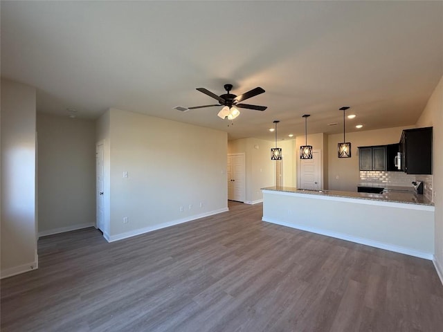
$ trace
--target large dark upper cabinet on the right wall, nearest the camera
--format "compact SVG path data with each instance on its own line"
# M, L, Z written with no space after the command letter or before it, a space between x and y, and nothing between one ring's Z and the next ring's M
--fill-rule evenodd
M401 169L406 174L432 174L432 127L405 129L400 153Z

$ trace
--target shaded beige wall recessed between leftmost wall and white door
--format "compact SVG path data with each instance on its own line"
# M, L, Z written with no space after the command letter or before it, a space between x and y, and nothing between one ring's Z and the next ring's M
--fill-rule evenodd
M95 122L39 113L37 137L39 235L95 225Z

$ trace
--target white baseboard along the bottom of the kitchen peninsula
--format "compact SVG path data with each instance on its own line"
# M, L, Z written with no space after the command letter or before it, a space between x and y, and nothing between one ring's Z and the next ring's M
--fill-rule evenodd
M286 223L284 221L269 219L269 218L266 218L265 216L262 217L262 221L266 221L267 223L276 223L277 225L282 225L282 226L286 226L286 227L290 227L290 228L296 228L297 230L305 230L307 232L326 235L327 237L335 237L336 239L342 239L345 241L360 243L360 244L364 244L365 246L371 246L374 248L380 248L380 249L384 249L384 250L390 250L393 252L399 252L399 253L405 254L405 255L415 256L415 257L429 259L429 260L433 259L432 252L422 252L422 251L418 251L418 250L411 250L409 248L395 246L394 244L390 244L390 243L383 243L383 242L379 242L379 241L364 239L361 237L352 237L347 234L332 232L330 230L323 230L320 228L306 227L304 225L296 225L293 223Z

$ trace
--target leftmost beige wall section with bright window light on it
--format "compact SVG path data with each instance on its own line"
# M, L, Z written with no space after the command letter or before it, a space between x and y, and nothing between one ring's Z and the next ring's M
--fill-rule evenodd
M1 277L37 268L35 89L1 80Z

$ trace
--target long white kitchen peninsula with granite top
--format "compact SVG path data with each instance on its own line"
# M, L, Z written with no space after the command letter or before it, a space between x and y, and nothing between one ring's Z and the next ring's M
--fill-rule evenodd
M262 221L433 259L434 211L423 195L266 187Z

